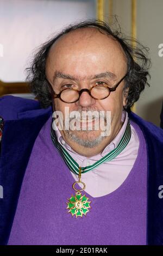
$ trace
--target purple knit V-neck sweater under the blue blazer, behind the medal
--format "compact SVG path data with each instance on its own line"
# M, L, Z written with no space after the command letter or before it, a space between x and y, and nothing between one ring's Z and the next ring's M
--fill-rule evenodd
M86 193L92 209L76 218L66 210L74 179L53 145L51 121L35 141L8 245L146 245L147 154L140 128L131 123L140 148L127 179L106 196Z

